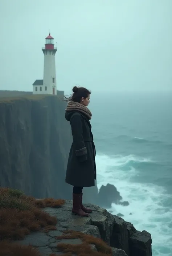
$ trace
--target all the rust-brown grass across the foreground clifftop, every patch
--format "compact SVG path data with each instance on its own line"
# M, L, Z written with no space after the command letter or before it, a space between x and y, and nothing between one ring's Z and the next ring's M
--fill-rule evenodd
M0 256L42 256L32 245L12 243L13 240L24 239L31 231L55 230L57 218L42 211L45 207L62 207L65 200L53 198L35 199L24 195L20 190L0 188ZM78 238L82 244L70 244L70 239ZM57 248L62 252L58 256L111 256L112 251L102 239L77 231L64 231L56 239L69 239L69 244L58 243ZM94 244L97 251L91 248ZM57 256L52 253L49 256Z

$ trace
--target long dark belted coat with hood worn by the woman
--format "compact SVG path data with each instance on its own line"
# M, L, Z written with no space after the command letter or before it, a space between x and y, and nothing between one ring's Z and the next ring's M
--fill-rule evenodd
M72 186L93 187L96 179L95 146L89 119L79 111L66 112L73 143L66 170L66 182Z

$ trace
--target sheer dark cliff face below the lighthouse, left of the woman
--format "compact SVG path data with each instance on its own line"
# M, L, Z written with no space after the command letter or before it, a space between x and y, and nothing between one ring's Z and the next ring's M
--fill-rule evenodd
M65 183L72 142L65 107L56 96L1 99L0 186L36 198L71 198Z

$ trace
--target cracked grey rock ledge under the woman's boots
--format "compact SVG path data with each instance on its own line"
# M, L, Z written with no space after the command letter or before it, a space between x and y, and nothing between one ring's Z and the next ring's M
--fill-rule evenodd
M22 245L31 244L38 248L42 256L50 253L61 254L58 251L58 243L82 244L80 239L61 239L65 230L74 230L102 238L112 247L112 256L151 256L151 234L147 231L137 231L129 222L125 222L119 216L115 216L94 204L85 204L93 210L89 217L71 215L72 201L65 200L61 208L44 208L51 216L57 216L57 230L46 232L32 232L26 235L24 240L15 241ZM90 245L94 250L95 246Z

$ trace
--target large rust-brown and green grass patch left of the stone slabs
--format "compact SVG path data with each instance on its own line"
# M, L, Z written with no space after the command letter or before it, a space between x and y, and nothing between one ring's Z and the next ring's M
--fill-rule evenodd
M62 199L37 200L20 190L0 188L0 240L24 239L30 231L54 229L57 218L41 208L61 207L64 203Z

